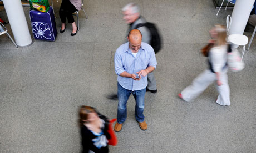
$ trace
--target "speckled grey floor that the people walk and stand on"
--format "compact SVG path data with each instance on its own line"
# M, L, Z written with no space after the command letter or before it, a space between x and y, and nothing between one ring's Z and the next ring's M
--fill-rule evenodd
M1 35L0 152L80 152L80 105L116 118L117 101L106 97L117 91L113 60L125 40L121 8L129 2L85 0L88 19L81 11L75 37L68 24L55 42L36 40L16 49ZM244 70L228 73L230 106L215 103L214 84L191 103L177 96L207 67L200 49L210 39L210 28L225 24L232 9L216 16L210 0L134 2L163 36L154 72L158 91L145 96L146 131L137 125L130 97L127 120L116 134L119 144L110 146L110 152L256 152L256 39L245 54ZM57 25L60 4L54 2ZM29 7L24 12L30 24ZM7 19L4 10L0 14Z

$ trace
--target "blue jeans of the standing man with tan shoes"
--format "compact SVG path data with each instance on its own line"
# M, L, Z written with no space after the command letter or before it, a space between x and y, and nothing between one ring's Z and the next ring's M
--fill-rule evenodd
M134 95L134 98L136 101L135 118L137 121L143 122L145 118L145 116L143 115L143 111L144 111L144 99L145 99L146 88L142 90L131 91L131 90L122 88L122 86L119 83L117 83L117 89L118 89L117 91L117 96L118 96L117 122L119 124L122 124L127 118L126 104L131 94Z

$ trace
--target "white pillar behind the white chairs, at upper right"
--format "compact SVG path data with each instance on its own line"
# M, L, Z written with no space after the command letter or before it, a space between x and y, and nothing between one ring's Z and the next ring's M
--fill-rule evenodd
M237 0L232 12L229 34L243 34L255 0Z

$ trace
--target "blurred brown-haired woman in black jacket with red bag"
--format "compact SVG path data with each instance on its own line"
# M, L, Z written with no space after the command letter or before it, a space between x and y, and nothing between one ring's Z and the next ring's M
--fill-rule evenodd
M111 132L113 128L109 127L112 125L112 120L109 121L106 116L90 106L81 106L79 116L83 153L109 152L109 141L110 145L117 144L115 133Z

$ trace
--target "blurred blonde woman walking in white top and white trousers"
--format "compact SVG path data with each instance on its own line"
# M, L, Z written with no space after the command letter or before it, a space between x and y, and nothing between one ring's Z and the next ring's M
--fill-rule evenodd
M213 82L216 82L219 96L216 103L225 106L230 105L230 90L228 85L227 65L227 32L223 25L215 25L210 30L213 39L213 48L208 53L209 68L193 80L193 83L186 87L179 97L185 101L191 101L199 96Z

